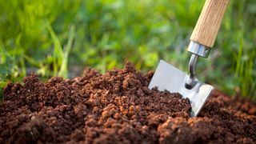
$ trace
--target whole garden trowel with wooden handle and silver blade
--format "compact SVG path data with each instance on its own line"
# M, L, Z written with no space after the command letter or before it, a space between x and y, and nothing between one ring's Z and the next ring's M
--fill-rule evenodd
M182 98L189 98L192 108L191 117L198 115L214 90L213 86L198 80L195 69L198 57L207 58L210 49L214 46L229 2L230 0L206 0L187 48L192 53L189 62L189 74L161 60L149 85L150 89L158 87L158 90L168 90L170 93L181 94Z

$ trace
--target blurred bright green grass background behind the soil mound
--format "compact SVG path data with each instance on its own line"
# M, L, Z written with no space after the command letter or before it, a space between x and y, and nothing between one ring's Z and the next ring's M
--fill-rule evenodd
M256 100L256 1L230 0L214 49L198 78ZM71 78L134 62L155 70L164 59L187 70L186 46L204 1L0 0L0 87L34 71ZM1 95L1 94L0 94Z

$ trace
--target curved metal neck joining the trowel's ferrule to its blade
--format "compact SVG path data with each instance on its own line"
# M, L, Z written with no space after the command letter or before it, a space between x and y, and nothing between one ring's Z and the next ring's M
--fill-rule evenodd
M198 83L198 78L195 74L195 69L197 67L198 63L198 55L192 54L190 58L190 63L189 63L189 77L186 79L185 86L187 89L192 89L197 83Z

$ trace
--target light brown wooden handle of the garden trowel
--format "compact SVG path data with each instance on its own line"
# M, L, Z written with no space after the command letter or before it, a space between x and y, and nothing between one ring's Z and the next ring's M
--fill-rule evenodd
M213 47L230 0L206 0L190 40Z

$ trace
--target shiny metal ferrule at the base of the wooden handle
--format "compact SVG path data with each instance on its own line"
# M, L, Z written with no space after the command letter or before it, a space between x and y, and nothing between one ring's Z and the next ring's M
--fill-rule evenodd
M208 58L210 54L210 47L203 46L198 42L190 41L190 45L188 46L187 50L190 53L197 54L200 57Z

